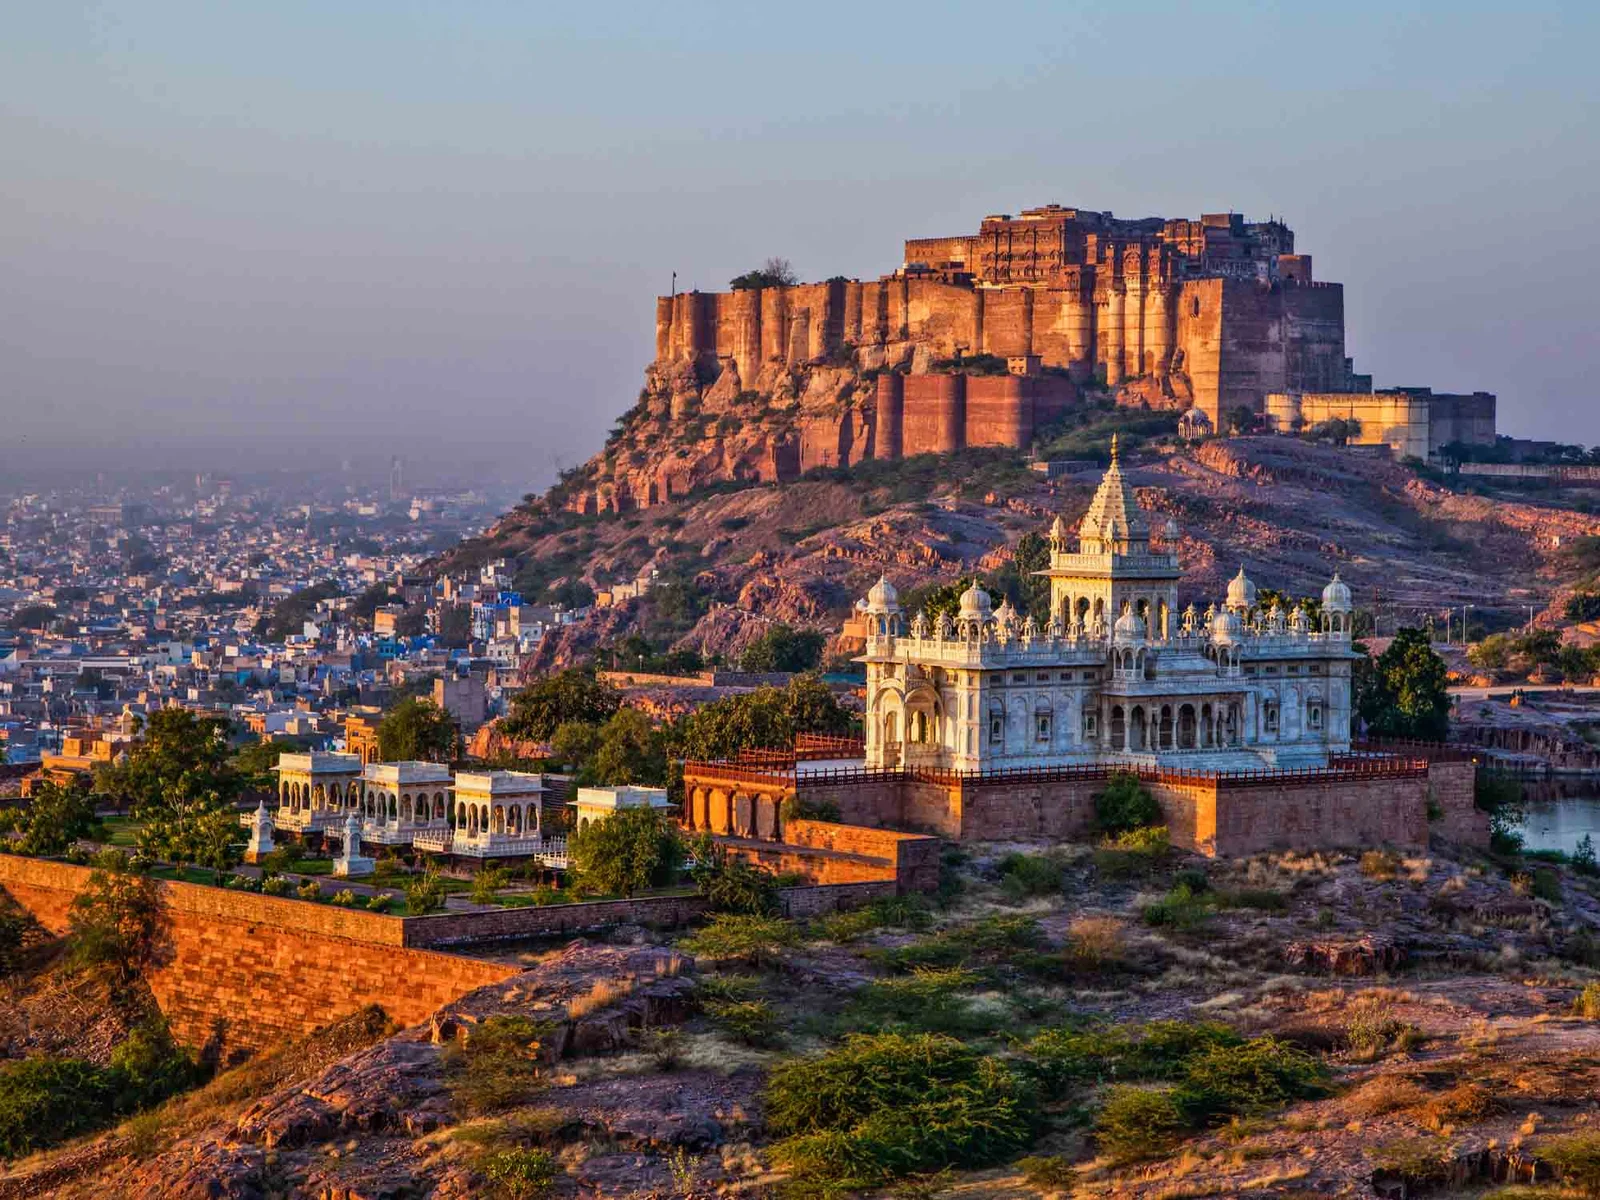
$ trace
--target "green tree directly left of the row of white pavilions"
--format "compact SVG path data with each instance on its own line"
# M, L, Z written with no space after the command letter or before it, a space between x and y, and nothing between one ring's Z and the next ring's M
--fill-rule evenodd
M229 723L187 709L152 714L128 758L101 771L99 790L139 818L139 848L174 862L232 816L245 787L227 744Z

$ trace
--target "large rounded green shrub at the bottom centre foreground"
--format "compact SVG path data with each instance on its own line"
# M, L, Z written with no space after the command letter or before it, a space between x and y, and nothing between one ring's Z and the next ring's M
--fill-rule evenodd
M774 1162L837 1190L1003 1162L1032 1142L1038 1118L1032 1091L1003 1062L938 1035L848 1037L779 1064L765 1098L782 1136Z

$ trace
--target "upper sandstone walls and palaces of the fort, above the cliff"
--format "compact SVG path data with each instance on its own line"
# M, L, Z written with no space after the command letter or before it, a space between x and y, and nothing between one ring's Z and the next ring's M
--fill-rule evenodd
M1048 206L987 218L973 237L914 238L902 267L656 301L656 360L795 366L901 342L936 358L1035 355L1078 381L1187 376L1208 416L1267 392L1342 390L1344 288L1312 278L1280 222L1237 214L1114 221Z

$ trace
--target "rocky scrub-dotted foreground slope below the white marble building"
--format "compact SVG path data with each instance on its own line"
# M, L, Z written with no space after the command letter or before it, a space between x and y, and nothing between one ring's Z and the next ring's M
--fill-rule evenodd
M1115 1072L1083 1078L1043 1106L1026 1155L912 1192L1581 1194L1552 1179L1563 1147L1600 1131L1594 877L1445 846L1242 862L970 850L942 906L701 936L698 962L619 931L536 955L413 1029L358 1014L14 1165L0 1197L816 1194L766 1126L766 1078L792 1056L851 1030L934 1032L1026 1070L1051 1037L1166 1029L1152 1021L1274 1037L1318 1082L1112 1154L1098 1112ZM547 1178L518 1190L517 1162ZM1530 1181L1542 1190L1501 1187Z

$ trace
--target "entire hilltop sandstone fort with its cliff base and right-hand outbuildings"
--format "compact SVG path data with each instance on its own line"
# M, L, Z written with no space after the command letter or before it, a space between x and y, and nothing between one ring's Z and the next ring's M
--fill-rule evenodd
M1026 448L1085 395L1186 411L1198 432L1245 410L1296 429L1371 414L1368 432L1405 453L1493 442L1486 394L1374 405L1346 357L1344 286L1314 278L1282 221L1046 205L910 238L877 280L757 272L659 296L638 405L562 501L638 509L704 483ZM1379 429L1394 413L1410 424Z

